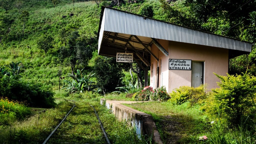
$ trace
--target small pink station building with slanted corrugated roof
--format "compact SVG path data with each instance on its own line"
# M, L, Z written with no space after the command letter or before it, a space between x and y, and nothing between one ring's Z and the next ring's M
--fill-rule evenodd
M145 86L165 86L168 93L180 86L217 88L214 73L227 75L229 59L252 48L239 39L108 7L102 7L98 39L99 55L136 62L150 70Z

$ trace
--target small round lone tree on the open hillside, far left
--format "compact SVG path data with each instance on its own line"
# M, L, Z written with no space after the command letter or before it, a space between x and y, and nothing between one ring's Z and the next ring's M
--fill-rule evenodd
M53 38L50 35L43 35L42 37L37 39L36 44L38 48L43 49L46 54L50 48L53 48L52 41Z

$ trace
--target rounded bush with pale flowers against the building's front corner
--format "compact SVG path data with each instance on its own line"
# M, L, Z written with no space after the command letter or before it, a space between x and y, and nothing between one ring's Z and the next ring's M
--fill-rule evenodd
M158 87L154 91L152 91L151 100L168 100L170 97L166 91L165 86Z

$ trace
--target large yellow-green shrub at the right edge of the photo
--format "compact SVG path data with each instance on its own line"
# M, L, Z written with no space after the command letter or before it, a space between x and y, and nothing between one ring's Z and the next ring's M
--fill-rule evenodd
M213 94L201 107L212 119L220 118L228 125L240 124L248 116L255 116L256 77L251 74L220 76L215 74L220 82ZM253 116L253 117L252 117Z

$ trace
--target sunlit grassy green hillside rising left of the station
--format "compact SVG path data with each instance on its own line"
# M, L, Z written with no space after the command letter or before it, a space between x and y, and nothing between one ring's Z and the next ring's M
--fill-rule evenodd
M21 61L26 78L34 79L46 84L56 85L58 81L57 71L62 69L63 74L70 73L70 68L64 66L59 59L60 43L58 33L67 24L78 23L81 32L88 24L88 19L99 18L100 9L93 2L63 1L55 8L51 1L25 1L23 10L29 12L24 36L22 35L23 24L19 19L18 9L14 8L5 13L1 9L4 28L9 29L0 45L0 64L7 65L12 61ZM73 16L69 16L73 13ZM62 18L62 16L67 16ZM98 23L92 24L93 30L98 30ZM53 48L47 54L36 45L36 40L44 35L54 37Z

